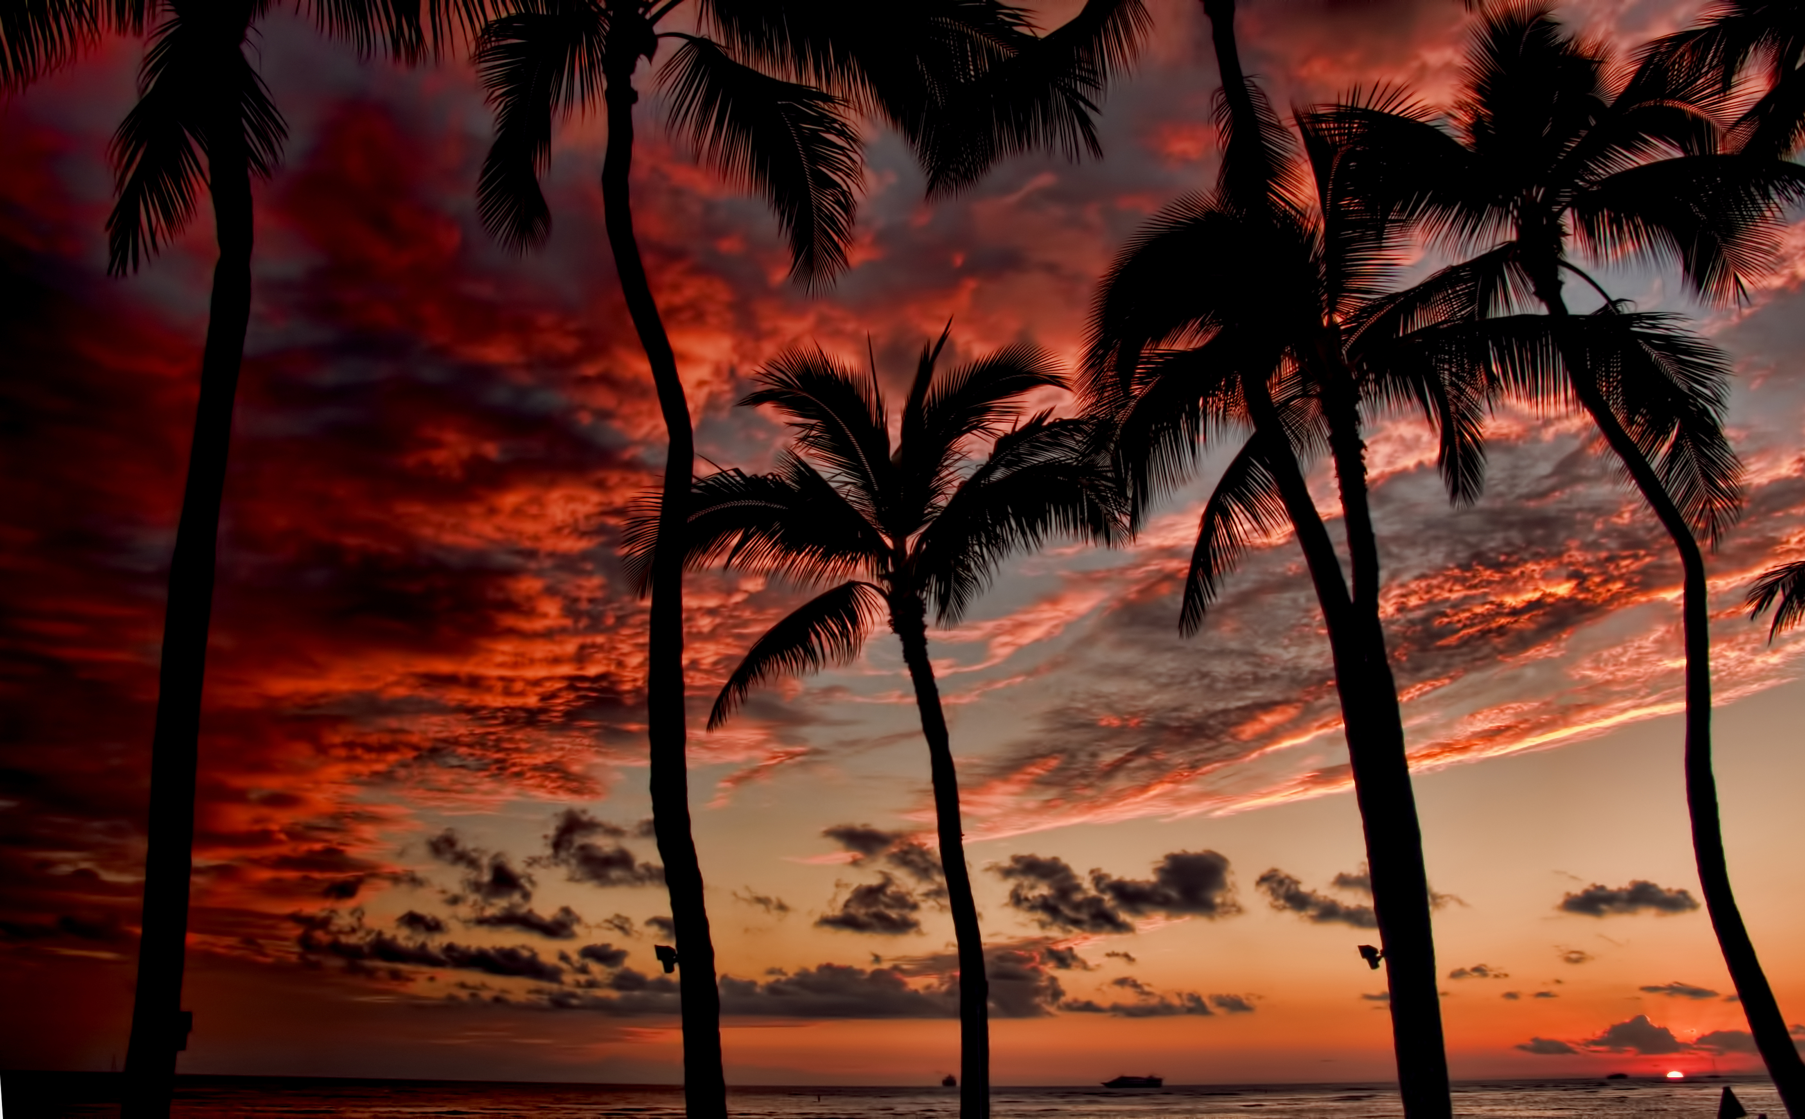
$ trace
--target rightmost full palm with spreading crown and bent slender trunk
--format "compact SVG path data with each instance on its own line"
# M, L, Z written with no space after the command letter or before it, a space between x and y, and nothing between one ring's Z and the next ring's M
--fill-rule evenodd
M1686 800L1699 881L1756 1047L1789 1114L1805 1115L1805 1063L1736 910L1711 771L1699 541L1715 545L1735 518L1740 467L1709 386L1679 426L1624 410L1623 393L1643 390L1612 384L1615 374L1599 368L1587 341L1599 323L1621 323L1621 307L1569 256L1574 244L1596 258L1677 260L1697 296L1740 298L1773 258L1785 204L1805 197L1805 168L1720 152L1713 96L1709 81L1661 51L1614 81L1599 47L1565 32L1547 7L1514 4L1480 20L1451 130L1419 106L1341 106L1328 119L1348 144L1359 197L1446 247L1484 249L1498 287L1527 294L1554 319L1563 375L1543 388L1585 412L1673 541L1684 576ZM1597 314L1569 310L1567 276L1605 296Z

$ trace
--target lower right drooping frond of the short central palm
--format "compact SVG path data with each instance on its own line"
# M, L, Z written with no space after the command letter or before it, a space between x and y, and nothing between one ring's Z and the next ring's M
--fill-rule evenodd
M1087 421L1040 413L996 439L921 534L912 569L940 623L957 623L1009 556L1051 536L1117 543L1121 491Z

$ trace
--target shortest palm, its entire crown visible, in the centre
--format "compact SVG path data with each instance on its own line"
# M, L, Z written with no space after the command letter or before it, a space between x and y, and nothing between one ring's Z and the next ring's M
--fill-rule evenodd
M989 1114L989 984L984 939L971 899L958 774L928 659L928 612L957 623L998 565L1052 534L1112 543L1119 538L1117 487L1094 455L1090 426L1018 419L1022 397L1061 386L1052 359L1007 347L944 374L946 334L922 348L901 440L892 449L877 384L821 350L791 350L760 375L764 388L742 404L773 404L796 442L769 475L718 471L688 495L686 563L771 572L803 585L834 579L771 626L727 682L709 713L718 727L756 684L845 664L879 621L902 643L915 686L933 774L933 810L958 940L960 1105L964 1119ZM973 442L991 440L971 466ZM628 536L641 570L657 556L643 518Z

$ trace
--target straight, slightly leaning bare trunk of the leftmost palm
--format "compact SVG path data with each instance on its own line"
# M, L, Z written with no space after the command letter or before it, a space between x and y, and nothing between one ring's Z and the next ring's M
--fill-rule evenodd
M188 1049L182 971L188 948L188 888L193 872L195 776L200 754L200 693L213 617L220 502L231 449L233 399L244 336L251 321L251 166L233 128L208 153L213 226L220 256L213 265L208 339L200 356L200 399L188 451L182 513L175 523L170 590L157 668L157 720L150 740L150 821L144 852L144 908L139 920L137 989L125 1056L128 1119L164 1119L175 1054Z

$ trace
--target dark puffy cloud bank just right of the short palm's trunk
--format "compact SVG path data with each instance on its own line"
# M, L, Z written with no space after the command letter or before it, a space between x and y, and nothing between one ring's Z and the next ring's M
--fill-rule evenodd
M991 866L1009 881L1009 906L1049 929L1128 933L1128 917L1227 917L1240 911L1229 861L1213 850L1171 852L1152 879L1119 879L1092 870L1079 879L1065 859L1016 854Z

